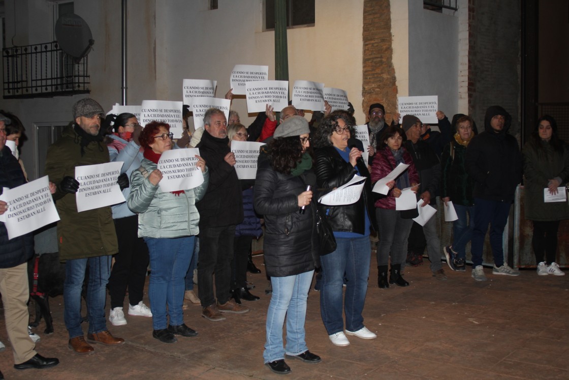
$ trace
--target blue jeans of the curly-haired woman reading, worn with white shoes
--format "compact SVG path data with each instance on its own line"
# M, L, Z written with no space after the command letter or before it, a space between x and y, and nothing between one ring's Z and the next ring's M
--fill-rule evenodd
M344 272L346 294L344 312L346 330L357 331L364 327L365 295L368 291L369 262L372 246L369 236L336 238L337 248L321 256L322 283L320 285L320 314L328 335L344 331L342 319Z

